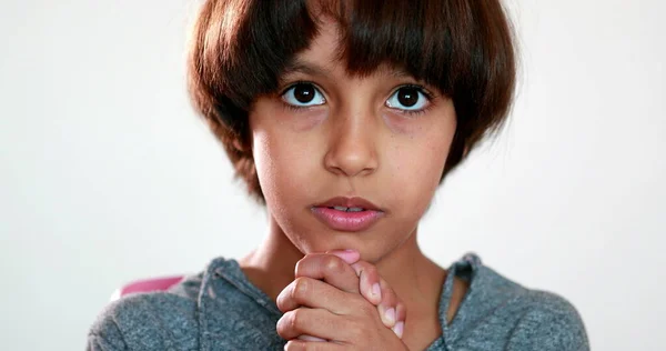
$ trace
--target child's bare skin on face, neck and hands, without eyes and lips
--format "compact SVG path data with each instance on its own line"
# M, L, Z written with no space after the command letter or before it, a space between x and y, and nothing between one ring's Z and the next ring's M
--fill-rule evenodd
M441 334L446 271L420 250L417 227L444 169L455 109L435 88L390 67L349 76L336 60L337 42L335 24L323 22L296 57L305 69L286 73L276 93L253 103L251 148L270 227L241 268L285 312L276 328L287 350L422 350ZM312 82L324 102L290 108L283 92L297 81ZM418 113L386 103L404 84L432 94L420 100L427 103ZM311 212L333 197L365 198L384 215L361 232L333 230ZM466 288L455 281L448 321Z

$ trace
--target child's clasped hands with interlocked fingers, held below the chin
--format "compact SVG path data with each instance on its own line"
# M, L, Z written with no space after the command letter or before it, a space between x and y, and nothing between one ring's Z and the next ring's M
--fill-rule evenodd
M400 340L404 303L359 258L355 251L334 251L299 261L296 279L278 297L284 312L278 333L289 340L286 350L406 350Z

